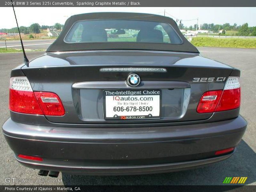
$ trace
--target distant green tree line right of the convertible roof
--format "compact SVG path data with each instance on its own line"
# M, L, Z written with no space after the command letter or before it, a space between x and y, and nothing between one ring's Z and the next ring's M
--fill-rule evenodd
M184 29L184 30L196 30L196 24L194 26L184 26L183 23L179 24L179 28L180 29ZM197 26L197 29L199 27ZM212 31L213 33L218 33L219 30L224 30L225 31L237 31L238 33L236 35L238 36L256 36L256 26L254 27L249 27L248 23L244 23L243 25L237 25L236 23L234 23L233 25L230 25L229 23L225 23L223 25L219 25L219 24L214 24L214 23L204 23L200 26L200 29L202 30L209 30Z

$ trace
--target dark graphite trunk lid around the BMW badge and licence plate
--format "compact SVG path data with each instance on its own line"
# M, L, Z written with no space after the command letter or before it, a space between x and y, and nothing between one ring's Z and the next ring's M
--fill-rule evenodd
M138 71L141 68L161 68L161 72ZM28 66L22 67L22 71L33 91L59 95L66 114L46 116L51 122L131 124L208 119L212 113L197 113L197 104L204 92L223 89L225 81L217 82L216 79L227 78L233 68L190 53L85 51L48 53L30 61ZM131 73L140 76L140 86L125 84ZM161 118L105 120L104 90L160 90Z

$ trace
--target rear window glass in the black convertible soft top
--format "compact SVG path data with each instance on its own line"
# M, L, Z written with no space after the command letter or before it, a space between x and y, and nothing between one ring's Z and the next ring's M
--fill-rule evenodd
M137 42L181 44L170 24L140 20L86 20L76 22L65 37L67 43Z

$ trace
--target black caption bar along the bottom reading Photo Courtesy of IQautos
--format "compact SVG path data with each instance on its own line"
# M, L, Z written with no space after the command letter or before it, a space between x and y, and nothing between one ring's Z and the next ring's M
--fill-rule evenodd
M23 186L23 185L15 185L15 186L0 186L1 192L91 192L91 191L97 191L97 192L116 192L116 191L122 191L122 192L166 192L166 191L172 191L172 192L180 192L180 191L186 191L186 192L199 192L199 191L207 191L207 192L216 192L216 191L232 191L232 192L251 192L255 191L255 185L252 186L225 186L225 185L185 185L185 186Z

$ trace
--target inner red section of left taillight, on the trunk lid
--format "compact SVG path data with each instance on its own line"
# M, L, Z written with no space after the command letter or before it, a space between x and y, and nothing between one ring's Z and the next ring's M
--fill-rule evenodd
M65 114L64 107L60 98L51 92L34 92L36 99L41 106L44 115L63 116Z

